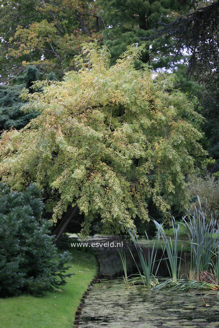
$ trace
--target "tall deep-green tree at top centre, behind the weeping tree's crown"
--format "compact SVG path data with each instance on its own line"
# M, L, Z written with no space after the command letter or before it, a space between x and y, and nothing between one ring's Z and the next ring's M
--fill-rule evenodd
M146 45L142 61L154 68L164 67L171 59L172 40L167 39L150 41L149 36L154 34L153 29L159 28L160 22L169 23L179 12L188 9L188 5L177 1L156 0L99 0L103 18L108 24L104 33L104 44L109 46L111 63L114 64L127 45ZM142 38L148 38L143 40ZM165 56L164 56L165 55Z

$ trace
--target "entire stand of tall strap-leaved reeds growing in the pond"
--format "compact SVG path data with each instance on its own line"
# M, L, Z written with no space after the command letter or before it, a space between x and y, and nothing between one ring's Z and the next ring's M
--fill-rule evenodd
M157 227L157 235L152 251L148 251L148 260L146 260L145 255L139 245L134 227L132 226L131 230L126 229L134 242L142 266L142 270L137 266L139 276L130 280L131 283L139 284L142 280L143 285L146 288L153 288L153 290L171 289L185 291L189 289L219 289L219 226L217 220L213 218L213 216L211 216L211 220L209 222L207 221L207 215L206 212L204 213L202 211L199 197L198 201L200 205L199 210L195 207L193 215L191 212L188 212L189 217L186 218L185 216L183 218L184 223L179 223L176 225L175 219L172 218L174 232L173 240L171 237L166 236L163 224L160 224L154 220ZM189 277L187 279L182 279L179 277L180 265L183 260L183 245L179 256L177 251L177 241L180 227L182 226L186 227L187 236L190 243L191 266ZM147 234L146 238L147 241L149 241ZM161 243L161 240L164 241L164 245ZM155 247L155 245L157 246ZM153 275L155 262L157 261L156 254L158 245L160 245L163 250L163 256L160 259L158 267L161 261L165 260L170 275L170 279L160 283L156 278L158 268L155 275ZM133 257L132 252L131 255ZM133 259L135 260L134 257Z

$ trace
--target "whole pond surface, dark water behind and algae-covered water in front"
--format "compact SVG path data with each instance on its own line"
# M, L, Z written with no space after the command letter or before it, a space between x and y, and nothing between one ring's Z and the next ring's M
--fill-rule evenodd
M122 247L94 248L99 260L100 283L96 283L82 308L80 328L110 327L219 327L218 291L209 292L174 292L150 291L142 286L125 289L123 268L118 249L126 254L128 275L136 273L136 265L128 250L128 245L135 253L135 248L124 239L115 236L92 237L89 242L123 242ZM182 242L179 242L181 244ZM185 244L185 241L184 241ZM141 240L141 248L147 257L148 248ZM181 248L181 245L179 245ZM118 249L117 249L118 248ZM162 250L158 252L162 256ZM185 262L181 273L189 270L189 253L185 252ZM168 277L165 261L162 261L158 276ZM202 301L209 306L206 307Z

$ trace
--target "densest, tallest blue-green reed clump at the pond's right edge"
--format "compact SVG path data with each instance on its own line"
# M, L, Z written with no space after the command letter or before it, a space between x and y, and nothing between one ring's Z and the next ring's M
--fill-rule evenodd
M205 213L202 211L199 197L198 202L199 210L195 207L193 215L188 211L189 217L185 216L183 218L184 223L182 223L186 227L190 243L191 264L188 279L179 279L179 277L176 279L175 277L172 280L161 282L154 289L167 288L178 291L219 289L219 227L217 220L212 215L210 221L207 220L206 211ZM158 224L156 225L158 226ZM162 229L161 232L163 233ZM162 237L165 239L165 234ZM166 245L168 246L167 243ZM172 243L170 245L172 246ZM171 260L174 260L176 253L173 252L172 248L170 251L167 251L167 255L171 264ZM176 262L174 264L176 265Z

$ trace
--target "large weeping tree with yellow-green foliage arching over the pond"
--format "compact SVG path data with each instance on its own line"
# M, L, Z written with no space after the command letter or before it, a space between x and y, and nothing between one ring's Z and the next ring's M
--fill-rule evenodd
M40 114L1 137L2 181L18 191L35 182L44 191L57 239L78 210L87 236L97 217L111 234L136 217L149 220L149 199L164 213L173 203L186 206L185 176L192 156L203 154L192 121L202 117L174 90L173 74L136 70L141 51L130 46L109 67L107 47L84 44L79 71L44 82L43 93L24 92L23 110Z

